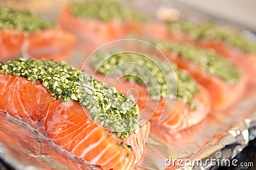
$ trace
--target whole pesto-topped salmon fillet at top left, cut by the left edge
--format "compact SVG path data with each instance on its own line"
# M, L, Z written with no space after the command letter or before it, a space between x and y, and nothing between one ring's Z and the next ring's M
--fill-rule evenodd
M2 62L20 53L36 59L64 60L70 56L75 42L72 34L32 13L0 7L0 22Z

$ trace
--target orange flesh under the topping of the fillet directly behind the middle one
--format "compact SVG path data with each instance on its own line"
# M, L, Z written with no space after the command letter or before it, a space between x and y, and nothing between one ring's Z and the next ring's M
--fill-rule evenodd
M180 69L186 69L198 83L203 85L211 95L212 108L214 110L225 110L234 104L243 95L246 87L246 76L241 76L239 81L231 85L220 78L207 73L197 64L182 59L178 55L170 52L166 56L171 62L175 62Z

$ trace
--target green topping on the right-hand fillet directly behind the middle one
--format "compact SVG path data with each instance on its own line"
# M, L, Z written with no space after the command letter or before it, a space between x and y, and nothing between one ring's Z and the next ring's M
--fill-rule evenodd
M215 52L180 43L157 42L154 45L163 51L177 53L179 57L195 62L209 74L221 78L231 85L236 84L241 76L239 69Z

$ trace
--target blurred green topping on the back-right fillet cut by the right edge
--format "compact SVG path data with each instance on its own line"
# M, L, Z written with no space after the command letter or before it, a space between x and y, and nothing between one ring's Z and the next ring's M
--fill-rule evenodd
M246 53L256 53L256 43L248 41L240 32L227 26L170 22L170 29L189 34L193 39L220 39Z

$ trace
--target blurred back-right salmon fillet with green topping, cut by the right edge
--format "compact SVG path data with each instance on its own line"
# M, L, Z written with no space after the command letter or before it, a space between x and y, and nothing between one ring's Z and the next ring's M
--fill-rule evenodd
M256 43L244 38L232 27L214 24L191 24L170 22L168 35L159 39L169 39L216 51L244 70L251 85L256 84ZM241 43L240 43L241 42ZM254 46L254 50L252 49ZM243 48L246 48L245 50ZM250 49L249 49L250 48Z

